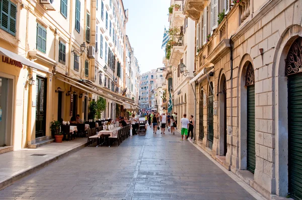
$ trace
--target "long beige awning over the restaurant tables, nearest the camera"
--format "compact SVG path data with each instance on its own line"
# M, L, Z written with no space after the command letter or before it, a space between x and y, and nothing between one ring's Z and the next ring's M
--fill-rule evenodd
M100 91L94 90L94 89L92 89L92 88L90 88L90 87L88 87L88 86L86 86L86 85L84 85L84 84L82 84L82 83L80 83L80 82L77 82L77 81L75 81L75 80L72 80L71 78L68 78L68 77L65 77L65 76L62 76L62 77L60 78L60 77L57 77L57 76L56 76L56 79L58 79L58 80L60 80L60 81L63 81L63 82L66 82L66 83L68 83L68 84L70 84L70 85L73 85L74 87L77 87L77 88L79 88L79 89L82 89L82 90L84 90L84 91L86 91L86 92L95 93L95 94L100 95L100 96L102 96L102 97L104 97L104 98L106 98L106 99L110 99L110 101L113 101L113 102L115 102L115 103L123 104L122 101L119 101L118 99L115 99L114 97L111 97L111 96L108 96L108 95L106 95L106 94L103 94L103 93L100 92ZM64 80L64 79L66 79L66 80ZM69 80L69 81L68 81L68 80Z

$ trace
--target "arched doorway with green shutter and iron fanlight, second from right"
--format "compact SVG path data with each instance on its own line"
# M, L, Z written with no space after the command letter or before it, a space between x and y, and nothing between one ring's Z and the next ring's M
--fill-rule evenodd
M256 167L255 153L255 74L252 63L246 72L247 87L247 170L254 173Z

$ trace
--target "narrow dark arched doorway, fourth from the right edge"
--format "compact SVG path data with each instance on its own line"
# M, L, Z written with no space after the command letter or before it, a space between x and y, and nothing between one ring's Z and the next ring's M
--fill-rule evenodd
M207 105L207 140L208 140L208 147L212 149L213 140L214 140L214 118L213 118L213 83L210 82L209 85L209 95L208 95L208 105Z

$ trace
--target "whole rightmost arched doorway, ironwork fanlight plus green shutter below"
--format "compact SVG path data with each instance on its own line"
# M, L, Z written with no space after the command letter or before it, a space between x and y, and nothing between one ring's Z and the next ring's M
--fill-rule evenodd
M291 45L285 60L288 77L288 192L302 199L302 38Z

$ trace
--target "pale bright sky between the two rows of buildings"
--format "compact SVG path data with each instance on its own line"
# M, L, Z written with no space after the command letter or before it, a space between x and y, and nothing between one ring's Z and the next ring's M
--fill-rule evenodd
M134 48L140 73L163 67L162 42L165 26L169 28L170 0L123 0L123 4L129 9L126 34Z

